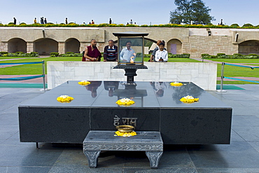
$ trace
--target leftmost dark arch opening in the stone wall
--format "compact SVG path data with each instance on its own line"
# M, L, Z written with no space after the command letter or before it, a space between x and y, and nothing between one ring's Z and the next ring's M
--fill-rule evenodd
M13 38L8 41L8 53L27 53L27 43L23 39Z

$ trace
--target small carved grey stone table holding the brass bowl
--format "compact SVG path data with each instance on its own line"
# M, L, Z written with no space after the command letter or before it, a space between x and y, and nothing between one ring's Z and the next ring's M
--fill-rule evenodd
M137 132L134 137L115 137L115 131L90 131L83 141L89 167L97 167L101 151L146 151L151 168L158 168L163 153L160 132Z

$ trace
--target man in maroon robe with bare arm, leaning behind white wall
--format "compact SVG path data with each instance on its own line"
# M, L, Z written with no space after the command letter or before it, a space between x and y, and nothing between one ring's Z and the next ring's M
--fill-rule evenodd
M83 55L82 61L100 61L102 54L97 48L97 41L95 39L91 40L91 45L85 48L85 53Z

